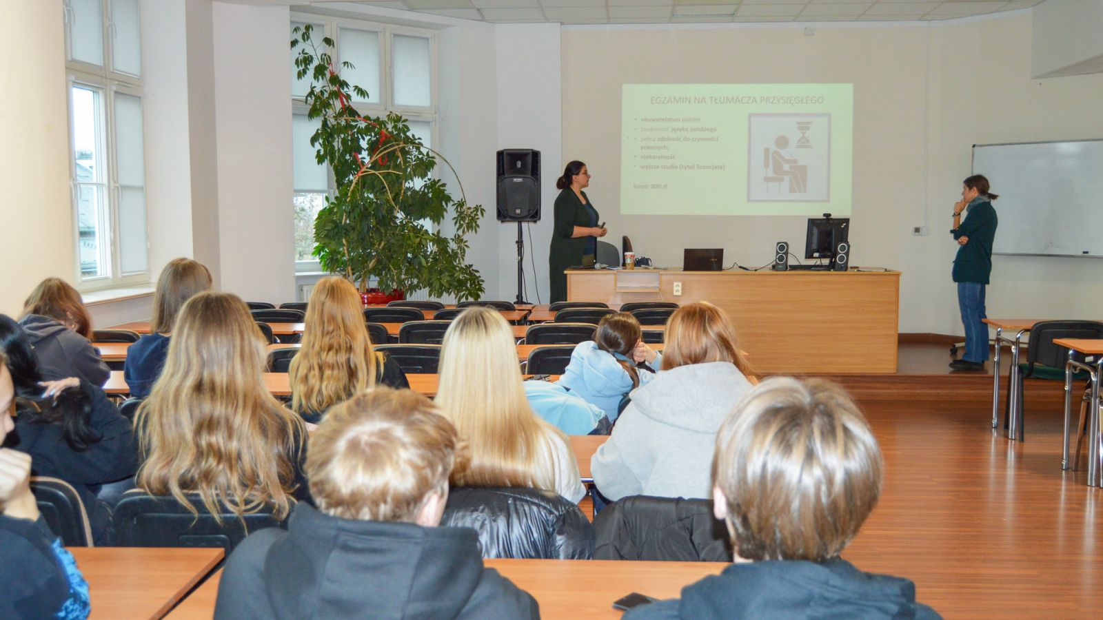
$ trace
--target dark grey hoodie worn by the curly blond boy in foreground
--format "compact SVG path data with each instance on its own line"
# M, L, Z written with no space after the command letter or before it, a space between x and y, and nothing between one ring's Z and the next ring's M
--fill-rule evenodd
M539 618L468 528L353 521L306 504L250 534L218 585L216 619Z

